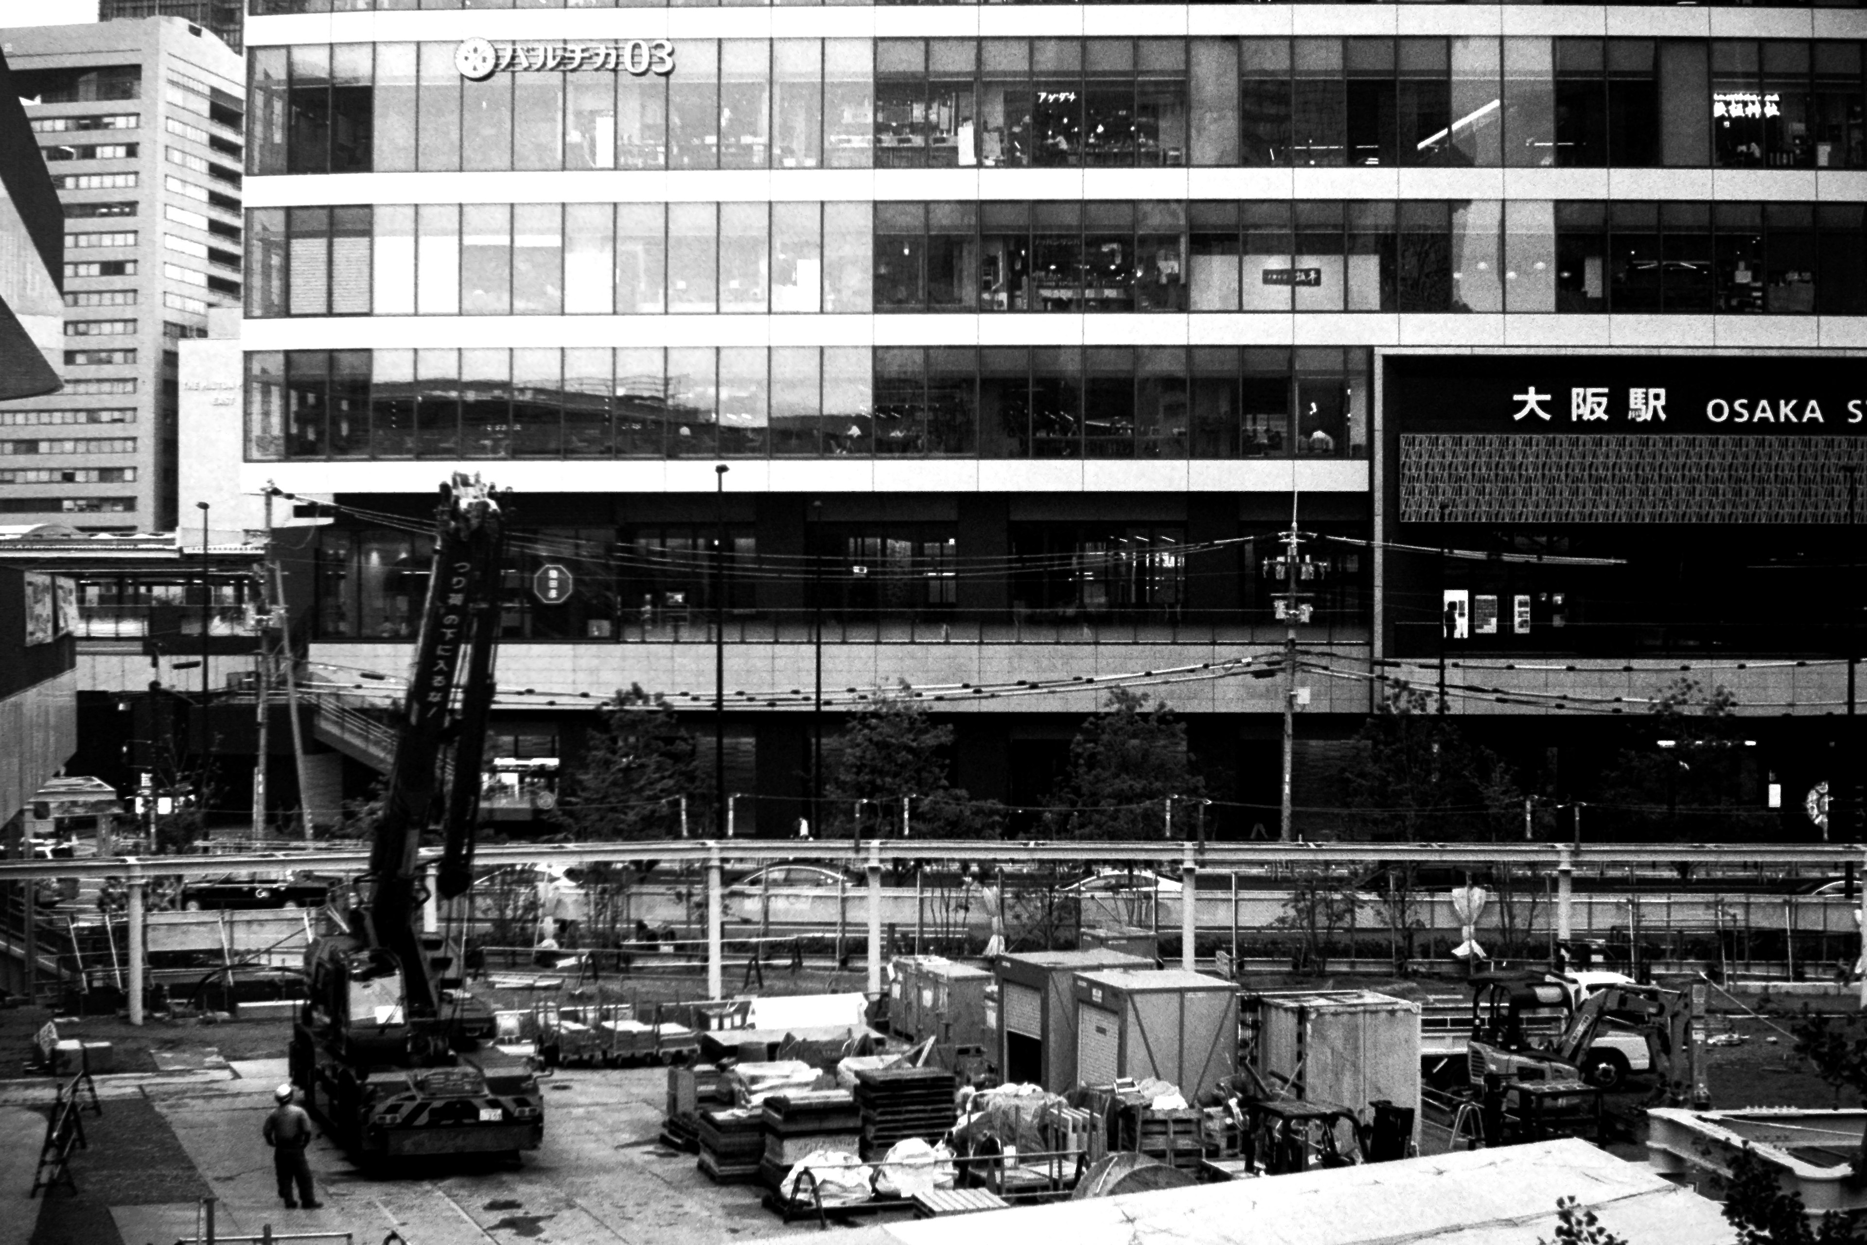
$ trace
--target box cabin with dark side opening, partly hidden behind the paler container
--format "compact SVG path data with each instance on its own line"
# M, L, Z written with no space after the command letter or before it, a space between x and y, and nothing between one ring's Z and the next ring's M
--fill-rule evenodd
M999 956L995 1051L1006 1083L1068 1094L1075 1079L1075 974L1092 969L1144 969L1154 961L1116 950L1027 952Z

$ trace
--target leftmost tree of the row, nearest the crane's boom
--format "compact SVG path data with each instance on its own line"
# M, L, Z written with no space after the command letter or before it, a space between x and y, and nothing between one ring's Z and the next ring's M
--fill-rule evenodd
M680 797L700 791L693 732L639 683L601 713L603 730L564 773L553 819L581 840L678 838Z

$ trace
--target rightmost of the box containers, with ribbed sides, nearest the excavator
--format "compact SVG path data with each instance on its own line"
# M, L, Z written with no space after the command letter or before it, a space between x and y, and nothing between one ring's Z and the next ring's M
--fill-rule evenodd
M1419 1135L1419 1004L1369 989L1247 995L1245 1060L1290 1098L1361 1112L1413 1111Z

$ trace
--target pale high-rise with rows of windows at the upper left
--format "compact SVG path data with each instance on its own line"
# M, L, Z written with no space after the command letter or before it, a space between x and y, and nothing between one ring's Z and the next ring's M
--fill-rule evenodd
M63 388L0 403L0 513L175 526L175 342L241 295L243 67L179 17L0 32L63 226Z

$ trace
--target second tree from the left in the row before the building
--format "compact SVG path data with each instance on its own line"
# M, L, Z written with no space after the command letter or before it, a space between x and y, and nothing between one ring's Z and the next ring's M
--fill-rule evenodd
M905 683L894 692L877 691L844 722L825 821L848 832L855 829L857 801L866 801L863 832L898 832L902 799L913 797L907 821L915 838L995 838L1003 812L975 804L952 784L950 748L952 726L937 724Z

